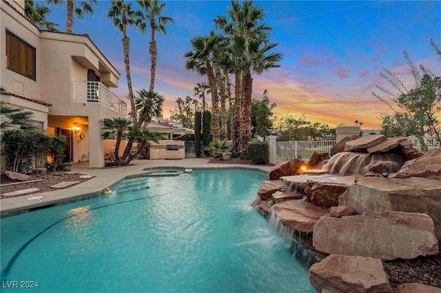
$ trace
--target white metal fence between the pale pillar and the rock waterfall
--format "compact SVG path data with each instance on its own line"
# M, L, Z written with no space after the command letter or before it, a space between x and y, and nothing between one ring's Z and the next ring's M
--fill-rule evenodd
M314 152L319 154L331 152L334 144L336 141L277 141L276 159L278 161L307 160Z

